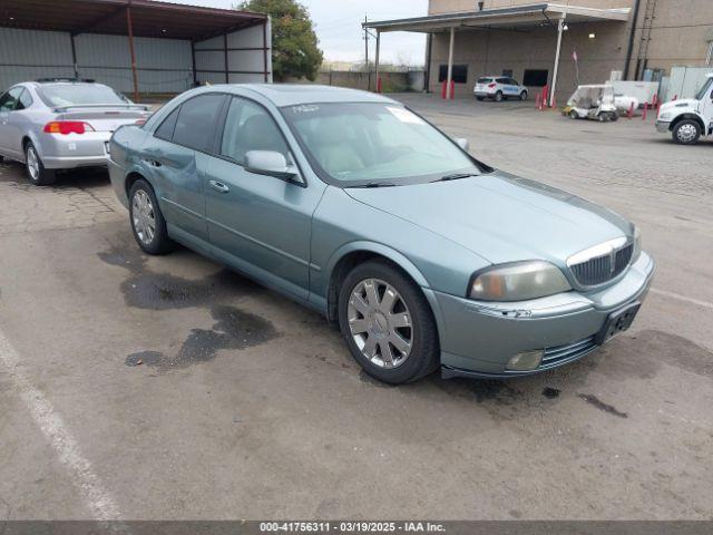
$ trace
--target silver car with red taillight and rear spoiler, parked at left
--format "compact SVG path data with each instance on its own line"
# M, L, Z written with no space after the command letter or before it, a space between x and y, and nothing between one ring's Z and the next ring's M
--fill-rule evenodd
M25 163L33 184L52 184L57 169L106 166L114 130L148 115L89 80L18 84L0 96L0 157Z

